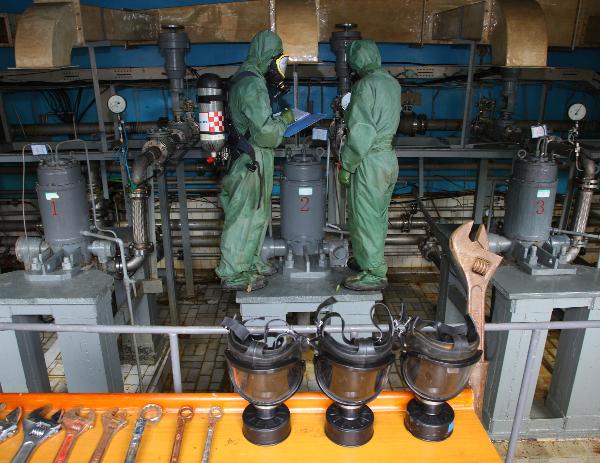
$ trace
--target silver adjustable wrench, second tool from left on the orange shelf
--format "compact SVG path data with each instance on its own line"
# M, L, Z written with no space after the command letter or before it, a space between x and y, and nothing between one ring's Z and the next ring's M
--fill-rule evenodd
M36 408L23 420L23 443L12 459L12 463L25 463L33 451L46 439L60 431L63 411L58 410L50 418L44 415L50 410L50 405Z

